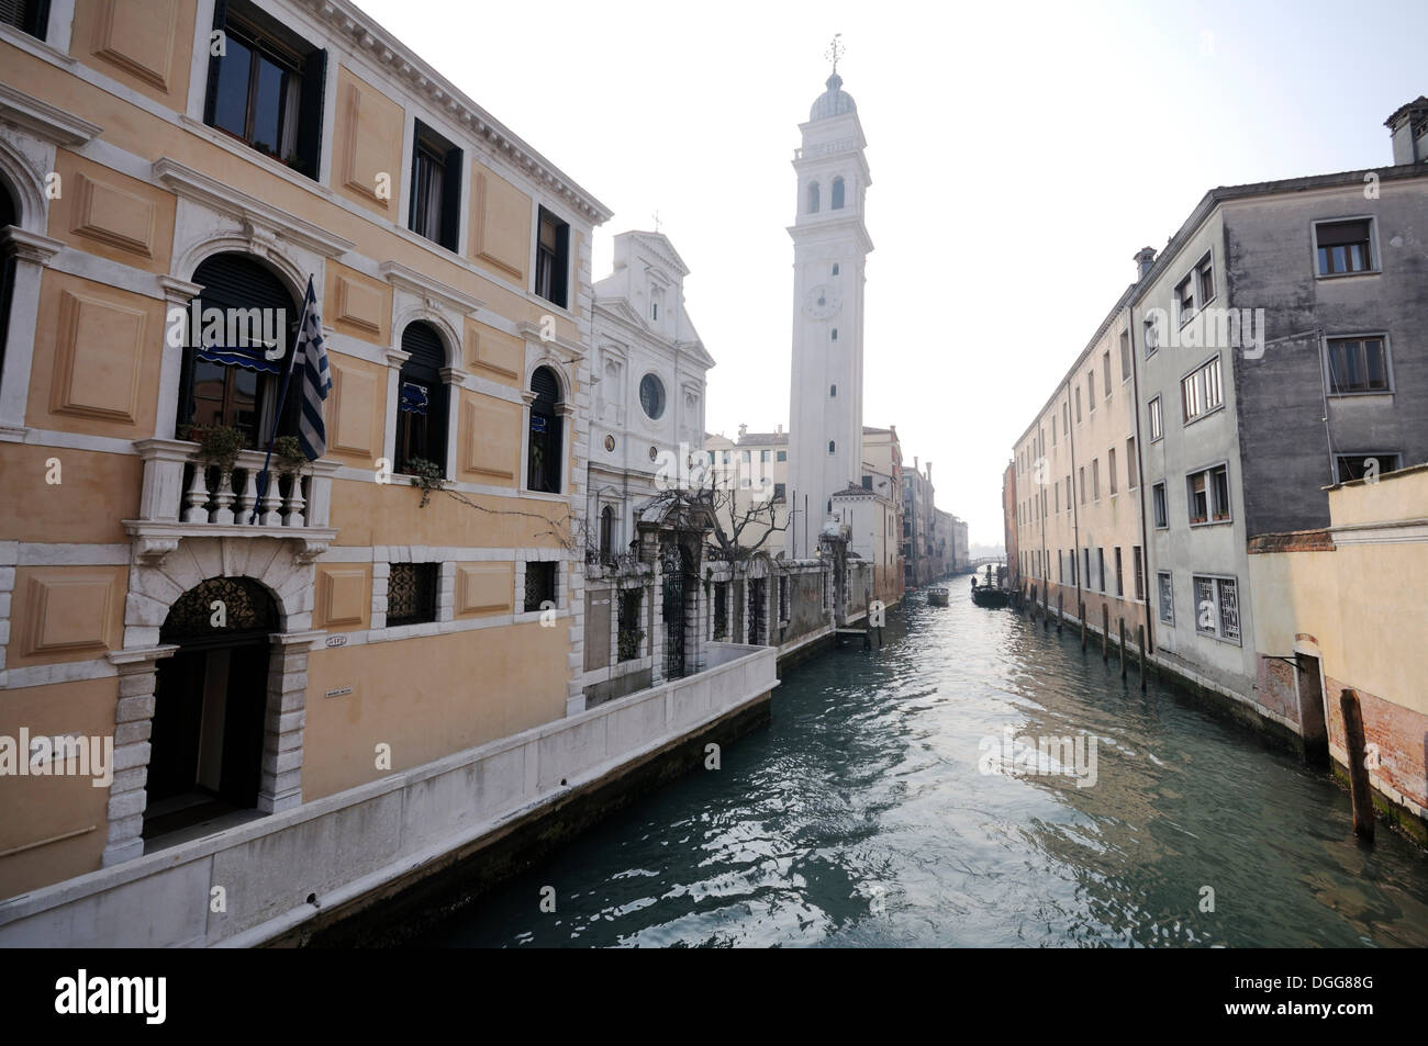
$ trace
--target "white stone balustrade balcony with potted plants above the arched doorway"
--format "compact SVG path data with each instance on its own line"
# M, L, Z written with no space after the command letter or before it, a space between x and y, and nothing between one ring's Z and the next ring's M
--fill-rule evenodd
M280 538L296 544L298 562L310 562L337 537L327 525L336 461L314 461L303 475L280 477L274 459L260 504L261 451L243 451L220 475L198 462L194 442L137 440L134 448L144 462L144 485L139 518L124 519L124 529L141 562L163 562L180 538L190 537Z

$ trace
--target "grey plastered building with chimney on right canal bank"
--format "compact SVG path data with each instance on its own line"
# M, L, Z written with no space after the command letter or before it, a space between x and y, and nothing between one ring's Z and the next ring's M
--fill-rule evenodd
M1392 166L1207 193L1137 255L1128 304L1155 645L1291 726L1262 686L1250 539L1428 461L1428 98L1388 126Z

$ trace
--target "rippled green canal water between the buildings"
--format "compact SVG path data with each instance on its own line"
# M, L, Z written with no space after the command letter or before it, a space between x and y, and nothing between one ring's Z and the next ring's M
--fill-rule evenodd
M1428 855L1327 775L950 587L417 943L1428 946Z

